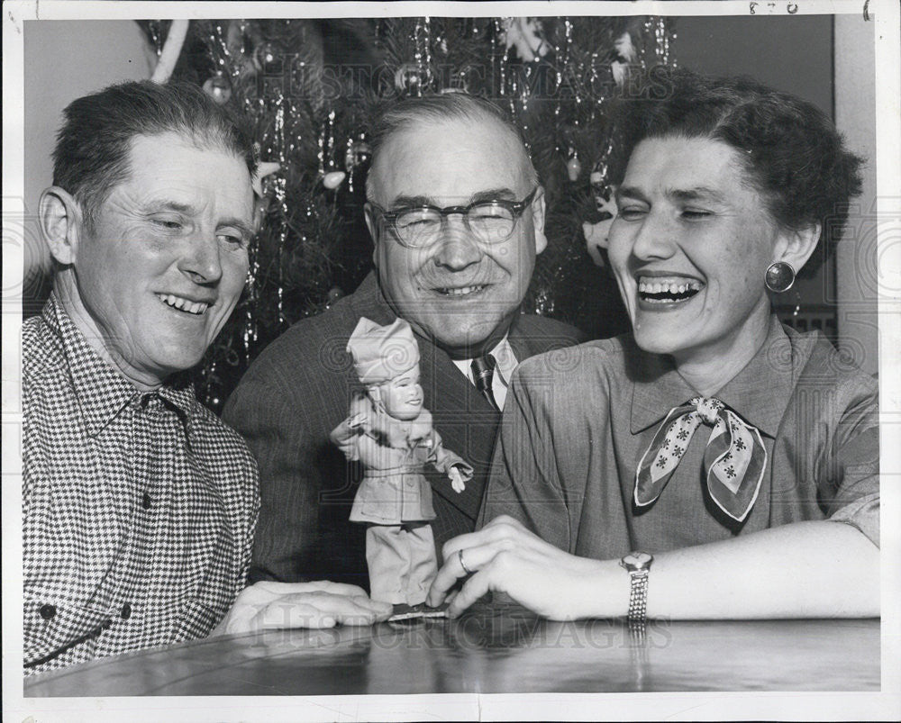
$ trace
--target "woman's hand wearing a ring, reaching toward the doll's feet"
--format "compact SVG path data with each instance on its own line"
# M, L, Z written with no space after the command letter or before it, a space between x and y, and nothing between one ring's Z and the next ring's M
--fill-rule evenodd
M443 549L444 565L438 571L428 603L438 606L458 578L473 573L448 607L456 617L489 591L505 592L519 604L545 618L567 620L603 614L597 588L600 575L611 563L577 557L534 535L513 518L501 516L484 529L449 540ZM615 565L615 563L614 563ZM606 597L622 597L622 614L628 608L629 576L622 569L605 585ZM622 583L622 584L617 584ZM611 594L612 593L612 594ZM608 607L614 609L613 605Z

